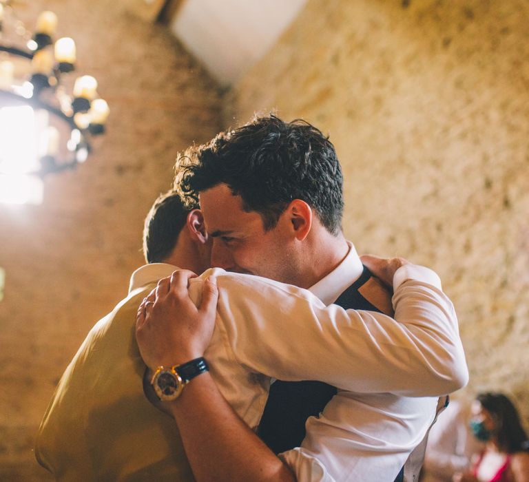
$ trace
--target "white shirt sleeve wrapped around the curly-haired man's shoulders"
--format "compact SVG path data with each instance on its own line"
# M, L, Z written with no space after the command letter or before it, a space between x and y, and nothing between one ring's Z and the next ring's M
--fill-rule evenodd
M265 278L218 269L201 277L211 274L217 323L237 362L254 373L410 397L445 395L468 381L453 304L423 266L395 273L395 319L324 306L307 290Z

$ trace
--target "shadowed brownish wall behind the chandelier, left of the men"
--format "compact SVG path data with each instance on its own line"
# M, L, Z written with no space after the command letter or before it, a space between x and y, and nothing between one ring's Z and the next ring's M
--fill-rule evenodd
M126 295L143 264L143 218L170 187L176 152L218 132L220 98L167 28L134 17L127 0L19 5L30 28L41 10L56 12L79 72L96 76L111 107L94 154L46 180L43 205L0 205L0 480L25 482L47 480L32 446L56 381Z

